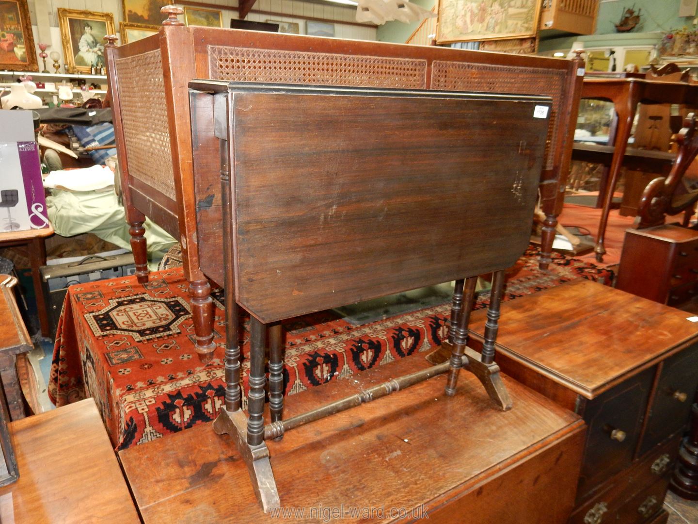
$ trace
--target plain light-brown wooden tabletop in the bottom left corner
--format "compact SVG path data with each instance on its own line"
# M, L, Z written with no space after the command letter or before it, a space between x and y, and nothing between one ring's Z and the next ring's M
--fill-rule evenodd
M0 521L140 523L94 400L9 428L20 479L0 488Z

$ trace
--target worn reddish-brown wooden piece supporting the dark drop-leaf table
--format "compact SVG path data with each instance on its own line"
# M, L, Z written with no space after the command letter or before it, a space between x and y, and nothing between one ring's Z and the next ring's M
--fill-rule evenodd
M286 409L294 416L426 367L424 354L414 354L298 393ZM290 512L276 518L262 512L230 437L210 424L119 458L148 524L350 523L369 521L367 511L376 522L420 515L431 523L564 522L584 442L579 416L507 377L508 412L492 409L472 374L463 374L452 397L445 382L434 377L269 442L281 510Z

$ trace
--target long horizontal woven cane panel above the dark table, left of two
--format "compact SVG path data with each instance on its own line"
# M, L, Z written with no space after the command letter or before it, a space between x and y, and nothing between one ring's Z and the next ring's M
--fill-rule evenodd
M352 87L426 87L426 60L209 45L214 80Z

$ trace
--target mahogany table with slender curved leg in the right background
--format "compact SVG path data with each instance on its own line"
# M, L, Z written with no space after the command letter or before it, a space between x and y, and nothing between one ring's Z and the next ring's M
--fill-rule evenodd
M581 98L610 100L618 116L616 132L609 137L609 143L615 145L609 180L606 187L601 189L604 194L604 203L595 247L596 258L601 261L606 252L604 236L609 210L621 166L623 166L625 150L628 148L628 138L630 138L637 104L676 103L695 107L698 102L698 85L683 82L657 82L641 78L585 78ZM690 163L692 158L686 161Z

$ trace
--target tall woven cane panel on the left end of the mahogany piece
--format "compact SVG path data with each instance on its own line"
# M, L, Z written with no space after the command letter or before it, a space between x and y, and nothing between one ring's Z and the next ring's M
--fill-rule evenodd
M119 58L116 69L128 173L176 200L160 50Z

